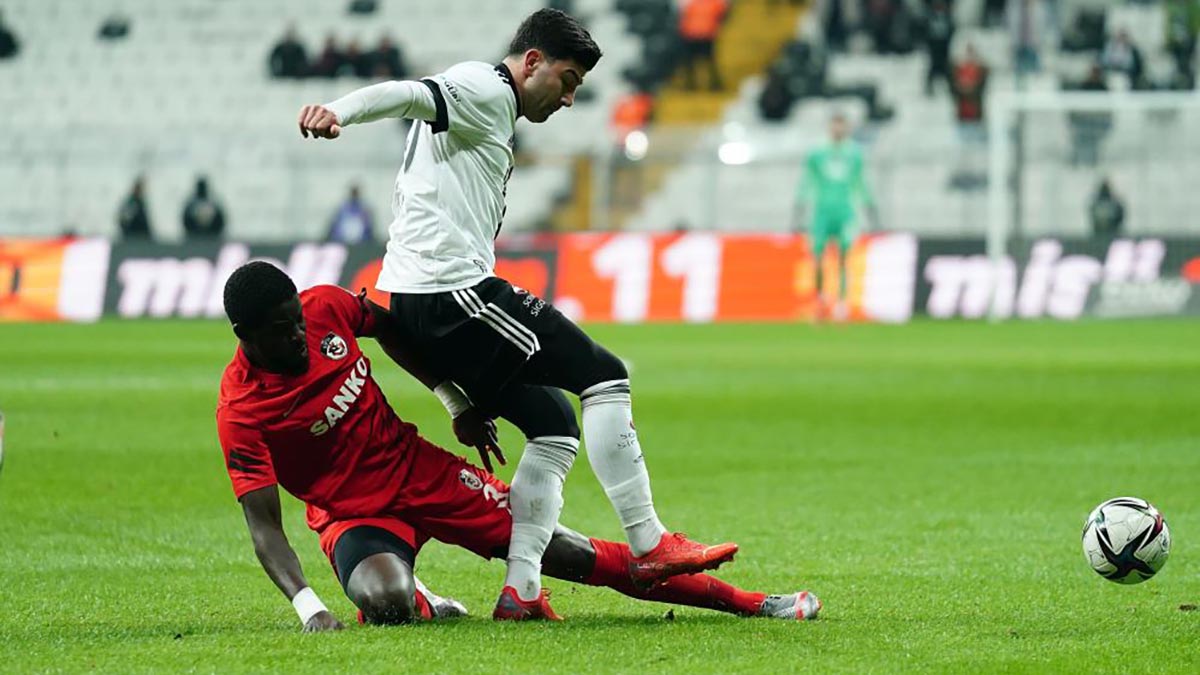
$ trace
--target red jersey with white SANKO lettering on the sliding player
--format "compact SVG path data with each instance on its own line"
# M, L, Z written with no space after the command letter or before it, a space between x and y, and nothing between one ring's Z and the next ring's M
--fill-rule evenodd
M256 368L238 347L221 380L217 435L238 498L280 484L308 504L308 526L376 516L397 503L416 428L402 422L371 377L358 336L374 316L337 286L300 293L308 370Z

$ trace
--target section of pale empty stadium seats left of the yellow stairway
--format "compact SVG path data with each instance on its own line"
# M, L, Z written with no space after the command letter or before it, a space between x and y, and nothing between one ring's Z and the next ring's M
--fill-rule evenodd
M390 214L391 179L404 129L388 123L336 143L302 142L300 106L360 86L353 78L271 79L270 52L294 24L310 53L329 34L374 44L390 34L421 74L467 59L503 55L536 0L383 0L348 13L326 0L26 0L6 6L20 36L18 58L0 61L0 102L22 110L20 131L0 153L0 232L110 235L138 174L156 238L182 238L181 211L194 179L208 175L224 204L227 234L246 240L319 238L358 183L371 209ZM574 10L607 56L588 78L594 96L520 141L539 157L518 168L505 228L539 227L571 185L566 157L602 137L620 72L637 56L610 0ZM98 40L101 24L126 17L128 34Z

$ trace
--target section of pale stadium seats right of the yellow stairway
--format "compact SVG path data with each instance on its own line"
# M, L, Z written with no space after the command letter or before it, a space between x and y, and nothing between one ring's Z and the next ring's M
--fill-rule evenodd
M1099 49L1060 50L1062 31L1052 25L1040 38L1042 67L1020 80L1014 74L1012 28L980 24L983 2L959 0L955 18L959 30L953 54L961 55L971 43L992 71L989 90L1054 91L1070 89L1084 79L1099 58ZM761 110L769 76L743 82L738 97L721 114L721 124L698 130L700 141L662 180L662 189L650 195L626 222L631 229L664 231L680 226L732 231L786 231L792 223L792 195L800 175L800 157L824 138L833 110L850 113L860 127L871 167L871 179L884 214L884 226L911 229L925 235L978 235L985 228L986 145L965 143L959 136L950 94L944 88L932 96L924 91L926 54L919 46L908 53L878 54L865 38L851 40L845 53L824 53L822 7L800 19L796 41L780 60L797 54L812 72L793 68L790 109L780 120L764 120ZM1106 12L1105 12L1106 10ZM912 4L912 11L919 11ZM1175 65L1165 52L1165 7L1160 2L1112 4L1091 0L1063 1L1060 25L1073 25L1078 16L1105 12L1105 35L1128 30L1145 54L1151 86L1172 86ZM1091 14L1088 14L1091 12ZM1049 20L1049 19L1048 19ZM857 43L856 43L857 42ZM803 46L803 48L797 48ZM779 66L776 61L775 68ZM785 68L786 70L786 68ZM796 70L800 70L796 74ZM768 71L774 72L774 71ZM814 85L814 77L817 83ZM1112 73L1109 89L1128 90L1128 78ZM877 89L877 96L863 96ZM815 89L814 89L815 86ZM882 109L881 109L882 108ZM894 108L894 117L892 110ZM1084 205L1097 186L1097 167L1068 166L1070 135L1061 125L1026 127L1027 145L1039 151L1027 159L1022 205L1030 216L1030 233L1039 228L1056 234L1085 234L1090 228ZM1176 147L1171 156L1150 157L1144 148L1146 119L1141 114L1115 115L1104 139L1112 154L1138 161L1104 167L1126 191L1132 208L1153 217L1140 219L1142 232L1195 232L1187 217L1200 205L1184 195L1158 198L1164 186L1174 185L1180 172L1198 169L1194 151ZM1181 129L1164 129L1169 135ZM1178 143L1192 147L1195 133L1181 133ZM746 148L752 161L719 161L720 149L730 143ZM1166 142L1164 142L1166 143ZM653 144L653 141L652 141ZM1162 145L1158 145L1162 147ZM698 197L698 198L697 198ZM1078 205L1063 208L1062 204ZM1150 223L1148 226L1146 223Z

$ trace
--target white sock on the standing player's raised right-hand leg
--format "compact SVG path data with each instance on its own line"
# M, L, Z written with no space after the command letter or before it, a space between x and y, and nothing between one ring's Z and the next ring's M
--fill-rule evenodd
M659 545L666 527L654 512L650 474L634 428L629 380L588 387L580 394L583 407L583 441L592 471L625 528L629 548L642 556Z

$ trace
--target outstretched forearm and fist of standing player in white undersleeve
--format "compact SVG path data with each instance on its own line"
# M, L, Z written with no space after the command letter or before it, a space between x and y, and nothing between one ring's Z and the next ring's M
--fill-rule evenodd
M433 121L437 102L421 82L383 82L350 91L332 103L300 108L300 136L337 138L342 127L385 118Z

